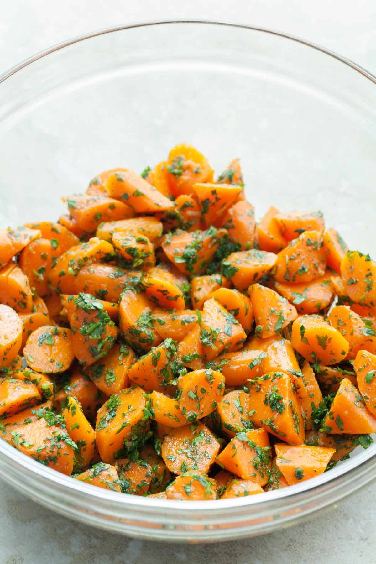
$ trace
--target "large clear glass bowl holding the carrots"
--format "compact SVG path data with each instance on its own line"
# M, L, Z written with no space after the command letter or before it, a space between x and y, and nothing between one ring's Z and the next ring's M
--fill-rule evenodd
M374 252L376 78L317 45L214 22L135 24L52 47L0 77L0 226L56 218L101 170L143 170L187 141L221 171L240 157L261 217L321 209ZM78 482L0 441L0 474L50 509L143 539L219 541L293 525L376 476L376 445L308 482L175 502Z

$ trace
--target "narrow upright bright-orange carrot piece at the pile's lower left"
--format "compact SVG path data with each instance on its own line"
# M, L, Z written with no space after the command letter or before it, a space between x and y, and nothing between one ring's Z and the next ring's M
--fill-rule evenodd
M61 415L65 419L67 431L77 444L78 450L74 453L78 468L85 468L90 464L95 452L95 431L87 421L81 404L72 396L64 402Z

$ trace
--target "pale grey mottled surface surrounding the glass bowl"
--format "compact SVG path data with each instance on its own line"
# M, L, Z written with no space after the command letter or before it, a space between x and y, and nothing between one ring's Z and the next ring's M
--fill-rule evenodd
M219 19L285 30L376 73L376 3L316 0L16 0L1 3L0 73L35 52L94 29L131 21ZM255 539L167 545L70 522L0 482L0 564L201 564L375 562L376 486L310 522Z

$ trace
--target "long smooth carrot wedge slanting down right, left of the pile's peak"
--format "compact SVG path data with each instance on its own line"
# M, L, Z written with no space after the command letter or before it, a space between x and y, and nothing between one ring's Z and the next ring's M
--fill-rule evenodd
M106 191L111 198L126 202L138 214L154 213L174 207L171 200L131 169L111 174L107 180Z

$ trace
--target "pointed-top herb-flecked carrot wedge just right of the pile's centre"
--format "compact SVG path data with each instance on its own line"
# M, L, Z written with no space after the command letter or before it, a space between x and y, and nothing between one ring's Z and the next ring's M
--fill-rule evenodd
M200 342L207 360L220 352L233 352L241 348L246 333L240 323L214 298L204 303L201 319Z

